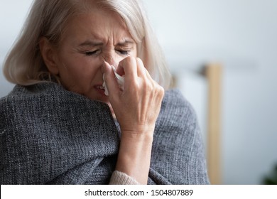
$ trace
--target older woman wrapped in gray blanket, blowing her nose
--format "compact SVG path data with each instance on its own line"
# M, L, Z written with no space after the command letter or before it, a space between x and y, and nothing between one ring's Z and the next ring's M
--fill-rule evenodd
M139 1L34 1L4 75L1 184L209 183Z

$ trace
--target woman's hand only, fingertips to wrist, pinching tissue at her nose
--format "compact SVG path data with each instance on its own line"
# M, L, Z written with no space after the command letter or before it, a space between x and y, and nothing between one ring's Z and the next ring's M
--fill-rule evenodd
M139 58L127 57L118 65L117 72L124 75L124 90L119 89L112 67L104 63L105 82L121 131L144 134L153 129L161 108L163 87L149 75ZM108 74L107 74L108 73Z

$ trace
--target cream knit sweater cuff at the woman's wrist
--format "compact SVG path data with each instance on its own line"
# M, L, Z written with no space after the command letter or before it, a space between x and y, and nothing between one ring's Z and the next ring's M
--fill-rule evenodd
M136 181L131 176L128 176L126 173L120 171L114 171L112 177L109 181L110 185L139 185L139 182Z

